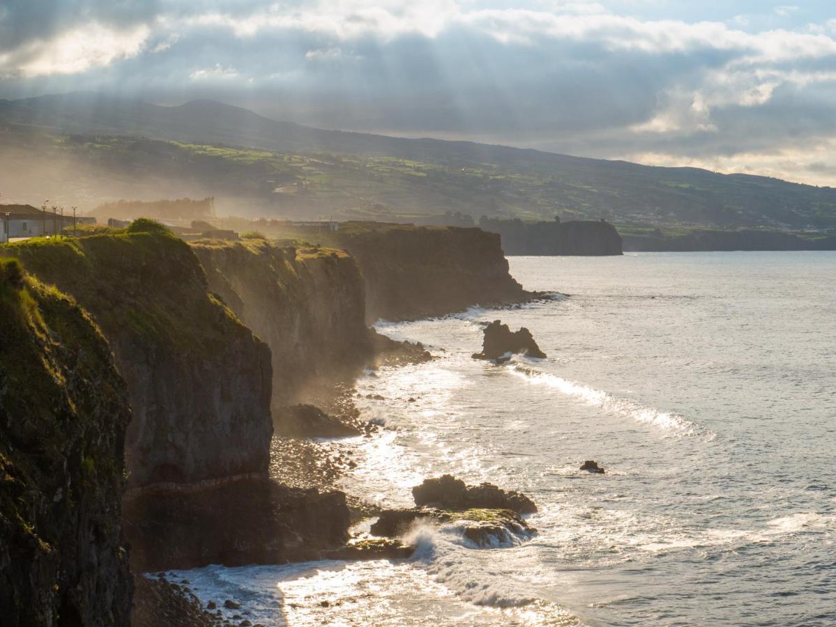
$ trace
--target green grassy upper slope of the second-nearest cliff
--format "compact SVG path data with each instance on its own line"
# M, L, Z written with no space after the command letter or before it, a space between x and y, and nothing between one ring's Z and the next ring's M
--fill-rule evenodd
M83 238L33 238L2 247L40 281L74 296L111 341L140 336L155 346L211 354L230 332L249 333L208 293L193 251L153 220Z

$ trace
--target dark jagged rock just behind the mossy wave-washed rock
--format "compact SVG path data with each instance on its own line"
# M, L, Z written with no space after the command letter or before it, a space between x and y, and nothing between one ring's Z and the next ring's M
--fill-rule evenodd
M517 513L534 513L537 506L522 493L505 491L492 483L468 486L451 475L425 479L412 488L415 505L439 505L447 509L493 508L511 509Z

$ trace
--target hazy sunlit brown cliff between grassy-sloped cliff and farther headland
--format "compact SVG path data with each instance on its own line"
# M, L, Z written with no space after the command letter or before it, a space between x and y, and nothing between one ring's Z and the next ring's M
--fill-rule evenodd
M265 240L192 245L209 288L273 353L273 404L296 402L314 378L337 378L372 354L364 285L342 250L281 247Z

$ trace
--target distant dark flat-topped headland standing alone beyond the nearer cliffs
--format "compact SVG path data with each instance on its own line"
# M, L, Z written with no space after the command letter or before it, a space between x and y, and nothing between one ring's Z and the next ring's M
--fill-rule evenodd
M604 220L523 222L482 218L480 228L502 236L506 255L621 255L621 236Z

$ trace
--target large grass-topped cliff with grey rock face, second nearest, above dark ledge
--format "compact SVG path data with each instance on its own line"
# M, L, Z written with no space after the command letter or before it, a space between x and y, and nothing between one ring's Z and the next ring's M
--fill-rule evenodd
M267 472L269 349L208 293L185 242L138 220L125 233L8 253L74 296L110 341L133 409L129 488Z

